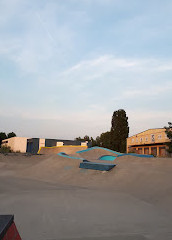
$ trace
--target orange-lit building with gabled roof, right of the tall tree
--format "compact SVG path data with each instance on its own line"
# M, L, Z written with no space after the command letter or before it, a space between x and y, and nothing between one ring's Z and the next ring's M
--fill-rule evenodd
M166 157L168 156L166 143L169 141L165 128L148 129L127 138L127 153L136 152Z

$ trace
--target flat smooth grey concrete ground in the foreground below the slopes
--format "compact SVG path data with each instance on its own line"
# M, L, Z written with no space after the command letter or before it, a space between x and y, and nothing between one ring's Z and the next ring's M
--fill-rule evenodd
M0 213L23 240L171 240L172 216L124 192L0 177Z

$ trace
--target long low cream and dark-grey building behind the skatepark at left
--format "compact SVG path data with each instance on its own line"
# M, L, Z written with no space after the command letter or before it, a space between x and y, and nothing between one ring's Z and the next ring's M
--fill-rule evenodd
M83 147L87 148L89 143L86 141L62 140L62 139L45 139L45 138L26 138L12 137L2 141L1 146L8 146L14 152L36 154L41 148L52 147Z

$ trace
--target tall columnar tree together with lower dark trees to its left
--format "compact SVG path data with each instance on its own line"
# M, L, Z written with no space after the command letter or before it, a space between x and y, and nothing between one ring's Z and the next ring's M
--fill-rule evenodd
M128 117L124 109L114 111L110 131L101 133L96 139L85 136L76 140L91 142L92 146L109 148L118 152L126 152L126 139L129 135Z

